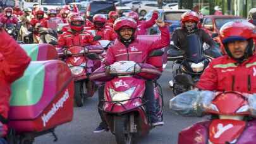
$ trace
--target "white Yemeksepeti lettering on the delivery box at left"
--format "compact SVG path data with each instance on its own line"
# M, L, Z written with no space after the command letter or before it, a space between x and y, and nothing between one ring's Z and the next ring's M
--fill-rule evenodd
M47 114L43 114L42 121L44 124L44 127L46 127L46 124L48 123L48 121L51 119L52 116L54 116L54 114L56 114L56 112L63 107L64 102L66 102L66 100L70 97L70 95L68 94L68 90L65 91L63 97L61 97L61 99L58 100L58 102L56 102L56 104L52 104L52 108L51 111L47 112Z

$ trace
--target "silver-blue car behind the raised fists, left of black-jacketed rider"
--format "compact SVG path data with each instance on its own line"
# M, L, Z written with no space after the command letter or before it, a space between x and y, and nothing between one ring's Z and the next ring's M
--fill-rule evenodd
M181 27L180 25L180 19L181 15L187 11L190 11L190 9L157 9L159 11L159 16L163 15L163 19L166 23L169 25L169 32L170 34L176 30L176 28ZM152 11L147 13L147 15L144 16L144 20L150 20L152 17ZM154 25L152 28L149 28L148 30L149 34L155 34L159 33L159 29L156 25Z

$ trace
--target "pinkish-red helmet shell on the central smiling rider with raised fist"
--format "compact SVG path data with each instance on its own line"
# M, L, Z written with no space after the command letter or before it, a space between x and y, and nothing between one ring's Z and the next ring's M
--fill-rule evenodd
M130 27L133 29L137 29L137 22L133 20L133 18L126 18L126 17L121 17L118 18L116 21L114 21L114 31L118 31L121 27Z

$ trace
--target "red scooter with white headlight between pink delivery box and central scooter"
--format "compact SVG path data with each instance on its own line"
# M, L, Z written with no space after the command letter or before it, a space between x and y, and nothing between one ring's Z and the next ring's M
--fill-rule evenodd
M101 66L101 61L88 59L87 54L101 54L104 50L97 45L73 45L64 51L64 61L70 67L75 80L75 104L82 107L86 97L92 97L97 90L94 81L88 79L90 73Z

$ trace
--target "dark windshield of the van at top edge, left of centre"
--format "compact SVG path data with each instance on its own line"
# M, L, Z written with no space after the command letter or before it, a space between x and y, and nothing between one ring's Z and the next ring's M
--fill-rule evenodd
M111 3L91 3L91 13L108 14L109 11L115 11L114 4Z

